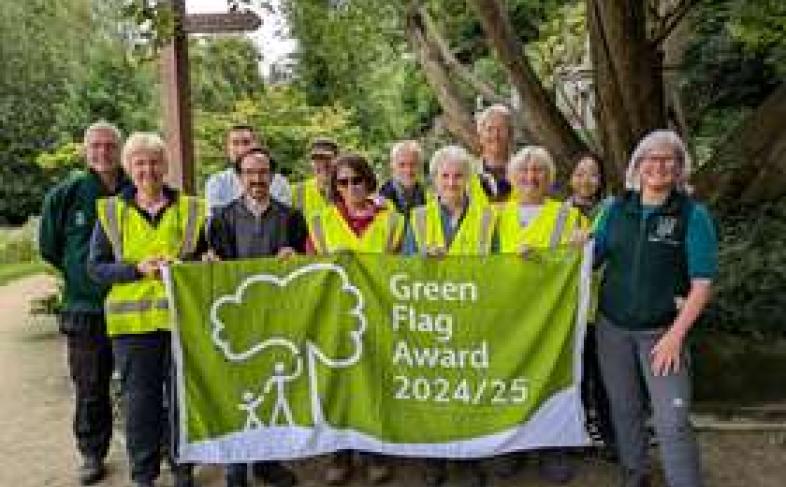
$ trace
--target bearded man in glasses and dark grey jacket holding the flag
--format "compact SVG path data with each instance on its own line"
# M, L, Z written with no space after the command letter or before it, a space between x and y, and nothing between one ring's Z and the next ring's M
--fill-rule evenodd
M275 163L264 148L256 147L241 155L234 165L243 194L220 208L208 224L208 241L215 259L255 257L286 258L303 253L306 222L297 210L270 197ZM291 487L295 474L279 462L259 462L254 474L265 485ZM227 487L246 487L245 464L227 468Z

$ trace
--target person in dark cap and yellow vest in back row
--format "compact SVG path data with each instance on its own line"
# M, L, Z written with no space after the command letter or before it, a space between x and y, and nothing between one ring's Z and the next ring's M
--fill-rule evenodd
M311 143L309 158L313 177L295 185L292 191L292 207L308 219L330 204L330 172L338 156L338 144L331 139L319 138Z

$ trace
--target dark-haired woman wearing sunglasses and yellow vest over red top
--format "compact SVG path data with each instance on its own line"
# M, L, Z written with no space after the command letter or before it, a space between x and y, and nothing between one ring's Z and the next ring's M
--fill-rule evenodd
M333 203L308 217L309 254L329 255L337 252L362 254L398 253L404 232L404 217L372 194L377 178L360 155L344 154L336 160L330 178ZM391 469L387 459L364 453L367 479L371 485L388 481ZM325 472L328 485L343 485L352 475L352 451L333 453Z

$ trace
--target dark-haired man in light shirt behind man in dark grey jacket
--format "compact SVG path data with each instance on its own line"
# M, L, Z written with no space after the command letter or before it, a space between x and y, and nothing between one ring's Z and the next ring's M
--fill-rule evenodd
M227 168L210 176L205 183L205 199L208 213L215 214L243 194L243 185L234 170L237 158L259 145L259 137L250 125L233 125L227 133ZM277 201L290 204L292 192L287 179L276 173L270 186L270 195Z

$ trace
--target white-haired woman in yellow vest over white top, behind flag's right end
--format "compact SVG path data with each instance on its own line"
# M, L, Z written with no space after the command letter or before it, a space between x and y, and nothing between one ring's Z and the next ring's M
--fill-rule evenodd
M500 209L500 253L527 258L535 249L586 241L587 219L570 202L548 197L555 178L554 160L544 147L527 146L511 157L508 179L513 185L513 197ZM512 474L518 461L516 455L505 457L498 464L500 473ZM564 484L575 475L566 452L561 449L542 451L539 467L541 477L550 483Z

